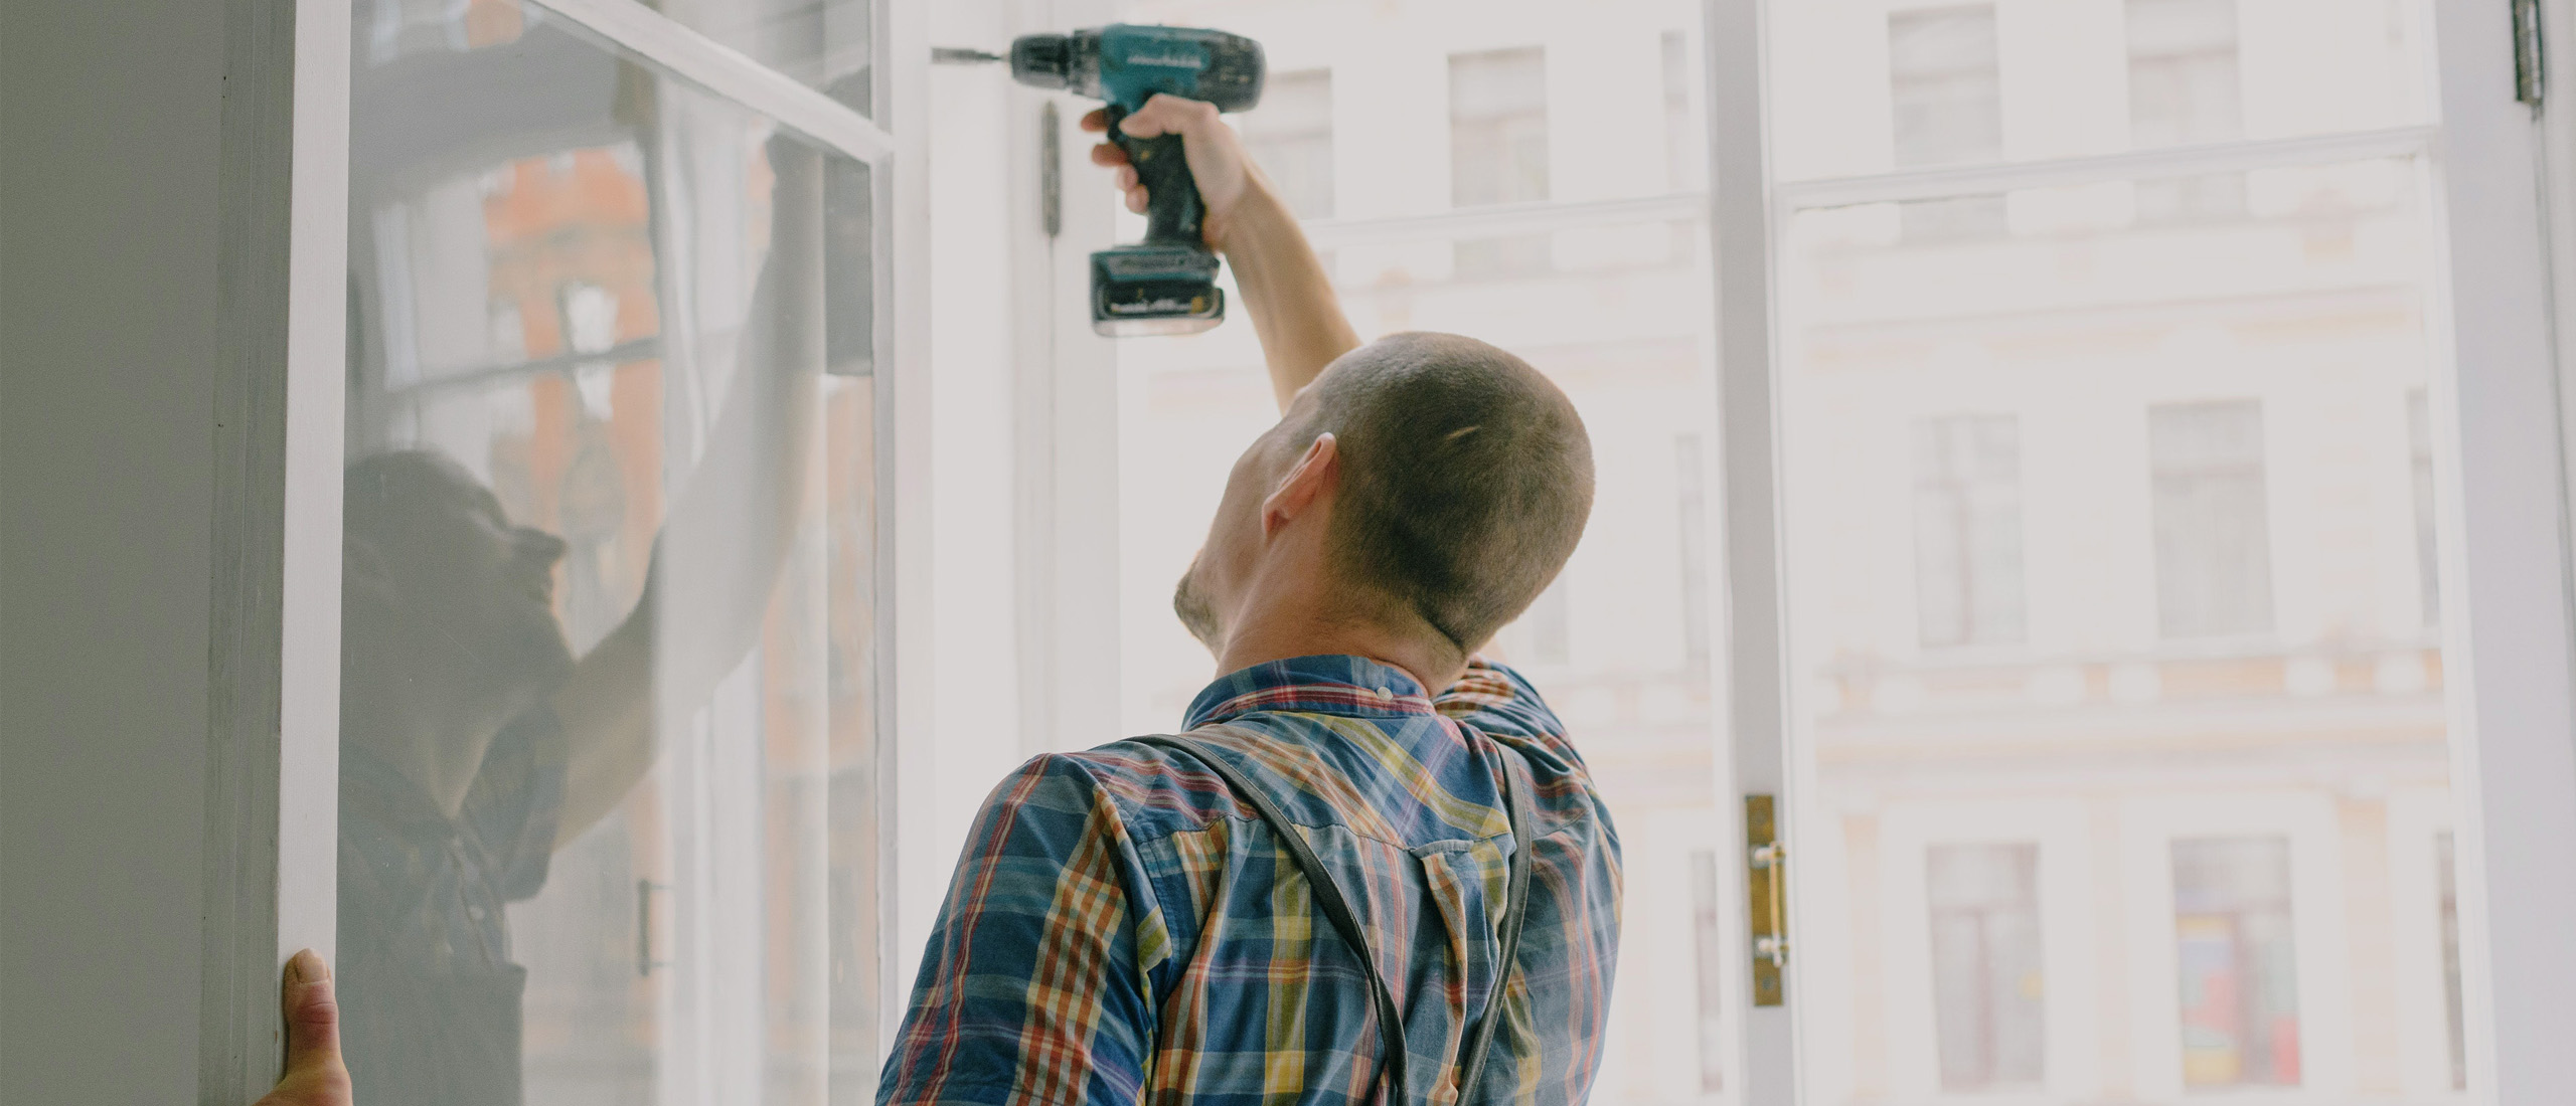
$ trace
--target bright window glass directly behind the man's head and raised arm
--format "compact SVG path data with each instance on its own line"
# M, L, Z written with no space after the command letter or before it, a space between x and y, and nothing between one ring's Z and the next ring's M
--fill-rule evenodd
M1728 1003L1741 993L1741 903L1718 895L1726 818L1708 607L1716 388L1708 226L1672 213L1564 216L1587 201L1667 195L1708 165L1700 5L1615 13L1543 0L1386 0L1319 18L1303 0L1154 0L1115 15L1218 26L1262 41L1278 72L1329 69L1340 188L1316 247L1360 337L1471 334L1520 352L1592 432L1595 507L1574 561L1497 646L1571 728L1623 846L1620 977L1595 1103L1739 1091ZM1270 157L1270 95L1236 123ZM1296 90L1291 90L1296 93ZM1280 108L1288 100L1278 100ZM1584 126L1551 129L1556 118ZM1443 141L1443 129L1448 131ZM1265 165L1273 180L1275 165ZM1097 188L1090 185L1090 188ZM1072 203L1087 185L1066 177ZM1097 188L1095 203L1113 203ZM1540 206L1543 219L1453 208ZM1412 224L1412 216L1427 216ZM1406 224L1396 224L1404 219ZM1358 226L1355 226L1358 224ZM1126 730L1170 730L1216 674L1172 617L1172 581L1208 535L1234 458L1278 419L1249 314L1188 340L1118 342L1121 679ZM1736 918L1736 921L1723 921Z

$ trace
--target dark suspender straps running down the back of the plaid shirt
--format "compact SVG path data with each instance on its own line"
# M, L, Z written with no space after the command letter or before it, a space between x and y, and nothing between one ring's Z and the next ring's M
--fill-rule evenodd
M1262 815L1265 823L1270 823L1270 836L1280 839L1280 846L1288 849L1288 859L1293 859L1298 872L1306 875L1306 885L1314 893L1314 903L1324 911L1324 918L1332 921L1332 929L1342 931L1342 939L1350 941L1350 949L1360 954L1360 965L1368 967L1368 998L1378 1008L1378 1037L1383 1042L1378 1085L1388 1088L1383 1098L1386 1106L1401 1106L1406 1093L1404 1013L1396 1011L1396 993L1394 988L1386 985L1386 972L1378 970L1378 949L1368 941L1368 931L1360 926L1360 916L1350 908L1350 900L1342 898L1342 882L1332 877L1332 869L1327 869L1324 859L1314 854L1314 846L1306 844L1306 836L1296 831L1296 823L1291 823L1288 815L1280 813L1275 802L1270 802L1270 795L1265 795L1260 787L1252 787L1252 779L1244 779L1242 769L1229 764L1213 748L1193 738L1167 736L1167 733L1133 741L1139 746L1175 748L1195 756L1208 766L1208 772L1216 772L1216 777L1224 779L1236 797L1249 802L1252 810ZM1512 818L1512 875L1504 890L1507 905L1502 916L1502 962L1499 972L1494 975L1494 995L1486 1001L1486 1016L1479 1021L1473 1042L1466 1049L1468 1067L1466 1078L1458 1085L1461 1106L1471 1106L1466 1096L1473 1093L1479 1075L1484 1075L1484 1055L1494 1044L1494 1024L1499 1021L1497 1011L1502 1008L1504 985L1510 983L1510 972L1517 970L1515 959L1520 954L1520 921L1530 900L1530 887L1528 887L1530 844L1528 836L1522 833L1522 826L1528 826L1525 797L1520 795L1520 787L1512 787L1510 772L1504 772L1502 777L1502 790Z

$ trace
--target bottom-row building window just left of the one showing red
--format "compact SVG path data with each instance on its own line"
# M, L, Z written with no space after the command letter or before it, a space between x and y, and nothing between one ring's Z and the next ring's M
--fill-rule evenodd
M1924 895L1932 908L1932 1019L1942 1088L2040 1083L2048 1037L2040 846L1932 846Z

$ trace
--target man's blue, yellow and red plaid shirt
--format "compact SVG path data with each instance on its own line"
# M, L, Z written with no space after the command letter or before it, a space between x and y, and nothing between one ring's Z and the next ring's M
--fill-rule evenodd
M1618 833L1520 674L1427 697L1399 669L1303 656L1234 671L1193 738L1262 782L1370 929L1404 1011L1404 1103L1577 1106L1618 952ZM1499 777L1533 797L1515 841ZM1512 849L1530 849L1520 975L1497 998ZM1368 977L1267 823L1188 754L1110 743L1012 772L930 934L881 1106L1373 1103ZM1388 1103L1394 1106L1394 1103Z

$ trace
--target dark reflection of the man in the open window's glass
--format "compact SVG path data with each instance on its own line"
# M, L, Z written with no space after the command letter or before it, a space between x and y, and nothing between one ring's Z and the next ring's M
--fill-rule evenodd
M708 450L636 607L574 656L564 543L430 450L345 473L340 1001L368 1106L518 1106L520 993L502 905L608 815L760 633L811 445L819 165L770 147L773 244ZM786 304L786 306L783 306Z

